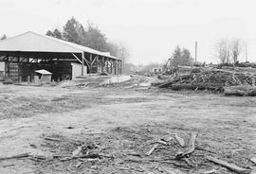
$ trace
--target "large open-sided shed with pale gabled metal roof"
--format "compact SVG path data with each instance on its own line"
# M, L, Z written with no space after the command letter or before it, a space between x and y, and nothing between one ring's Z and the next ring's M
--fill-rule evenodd
M26 80L38 69L52 72L56 80L74 78L71 62L82 65L81 76L86 73L121 74L119 58L31 31L0 42L0 61L5 61L5 76L13 80Z

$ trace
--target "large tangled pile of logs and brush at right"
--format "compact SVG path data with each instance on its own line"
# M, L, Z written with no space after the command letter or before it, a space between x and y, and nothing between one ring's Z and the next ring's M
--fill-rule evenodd
M255 85L255 77L250 73L239 73L227 70L193 71L190 74L177 76L165 81L159 88L173 90L212 90L223 92L224 87L237 85Z

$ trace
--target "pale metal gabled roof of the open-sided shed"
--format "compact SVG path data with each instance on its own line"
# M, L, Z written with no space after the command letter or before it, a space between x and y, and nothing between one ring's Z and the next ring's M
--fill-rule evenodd
M24 51L24 52L62 52L62 53L92 53L119 60L111 55L82 46L76 43L66 42L60 39L41 35L32 31L6 39L0 42L0 51Z

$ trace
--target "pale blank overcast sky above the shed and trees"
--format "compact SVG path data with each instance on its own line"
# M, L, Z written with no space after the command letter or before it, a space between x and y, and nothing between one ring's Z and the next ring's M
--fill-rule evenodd
M232 37L247 41L248 60L256 61L255 5L254 0L0 0L0 34L46 34L74 16L125 43L137 64L164 62L177 44L193 56L195 41L198 61L215 62L215 43Z

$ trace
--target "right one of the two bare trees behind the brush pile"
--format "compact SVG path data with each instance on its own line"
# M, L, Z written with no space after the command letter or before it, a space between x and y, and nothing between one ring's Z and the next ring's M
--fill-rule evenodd
M232 39L229 43L229 47L232 61L235 63L238 61L238 57L242 53L244 47L242 40L237 38Z

